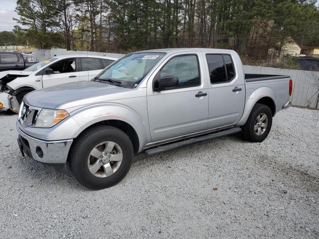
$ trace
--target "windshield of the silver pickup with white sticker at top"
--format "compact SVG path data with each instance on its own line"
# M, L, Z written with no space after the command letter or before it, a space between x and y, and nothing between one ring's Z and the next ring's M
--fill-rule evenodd
M164 55L158 52L129 54L102 71L94 81L134 88Z

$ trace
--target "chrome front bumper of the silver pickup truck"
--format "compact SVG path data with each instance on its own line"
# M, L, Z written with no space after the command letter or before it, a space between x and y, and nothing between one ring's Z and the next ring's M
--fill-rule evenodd
M25 134L19 127L17 130L19 133L18 144L22 155L25 153L28 157L42 163L66 163L73 139L45 141Z

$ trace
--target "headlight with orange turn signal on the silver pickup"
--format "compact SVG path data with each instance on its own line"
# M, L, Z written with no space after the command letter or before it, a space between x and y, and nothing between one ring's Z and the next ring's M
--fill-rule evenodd
M49 128L68 116L69 114L65 110L42 109L34 127Z

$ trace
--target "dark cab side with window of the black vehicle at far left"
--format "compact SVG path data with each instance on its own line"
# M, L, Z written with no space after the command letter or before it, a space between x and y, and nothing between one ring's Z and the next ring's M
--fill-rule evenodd
M24 63L16 53L0 53L0 71L23 70Z

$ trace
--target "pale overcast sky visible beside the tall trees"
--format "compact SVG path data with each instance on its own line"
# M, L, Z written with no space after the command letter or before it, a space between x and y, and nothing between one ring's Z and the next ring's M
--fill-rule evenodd
M12 18L18 18L14 11L16 0L0 0L0 2L0 31L12 31L13 26L17 24ZM319 6L319 0L317 5Z

